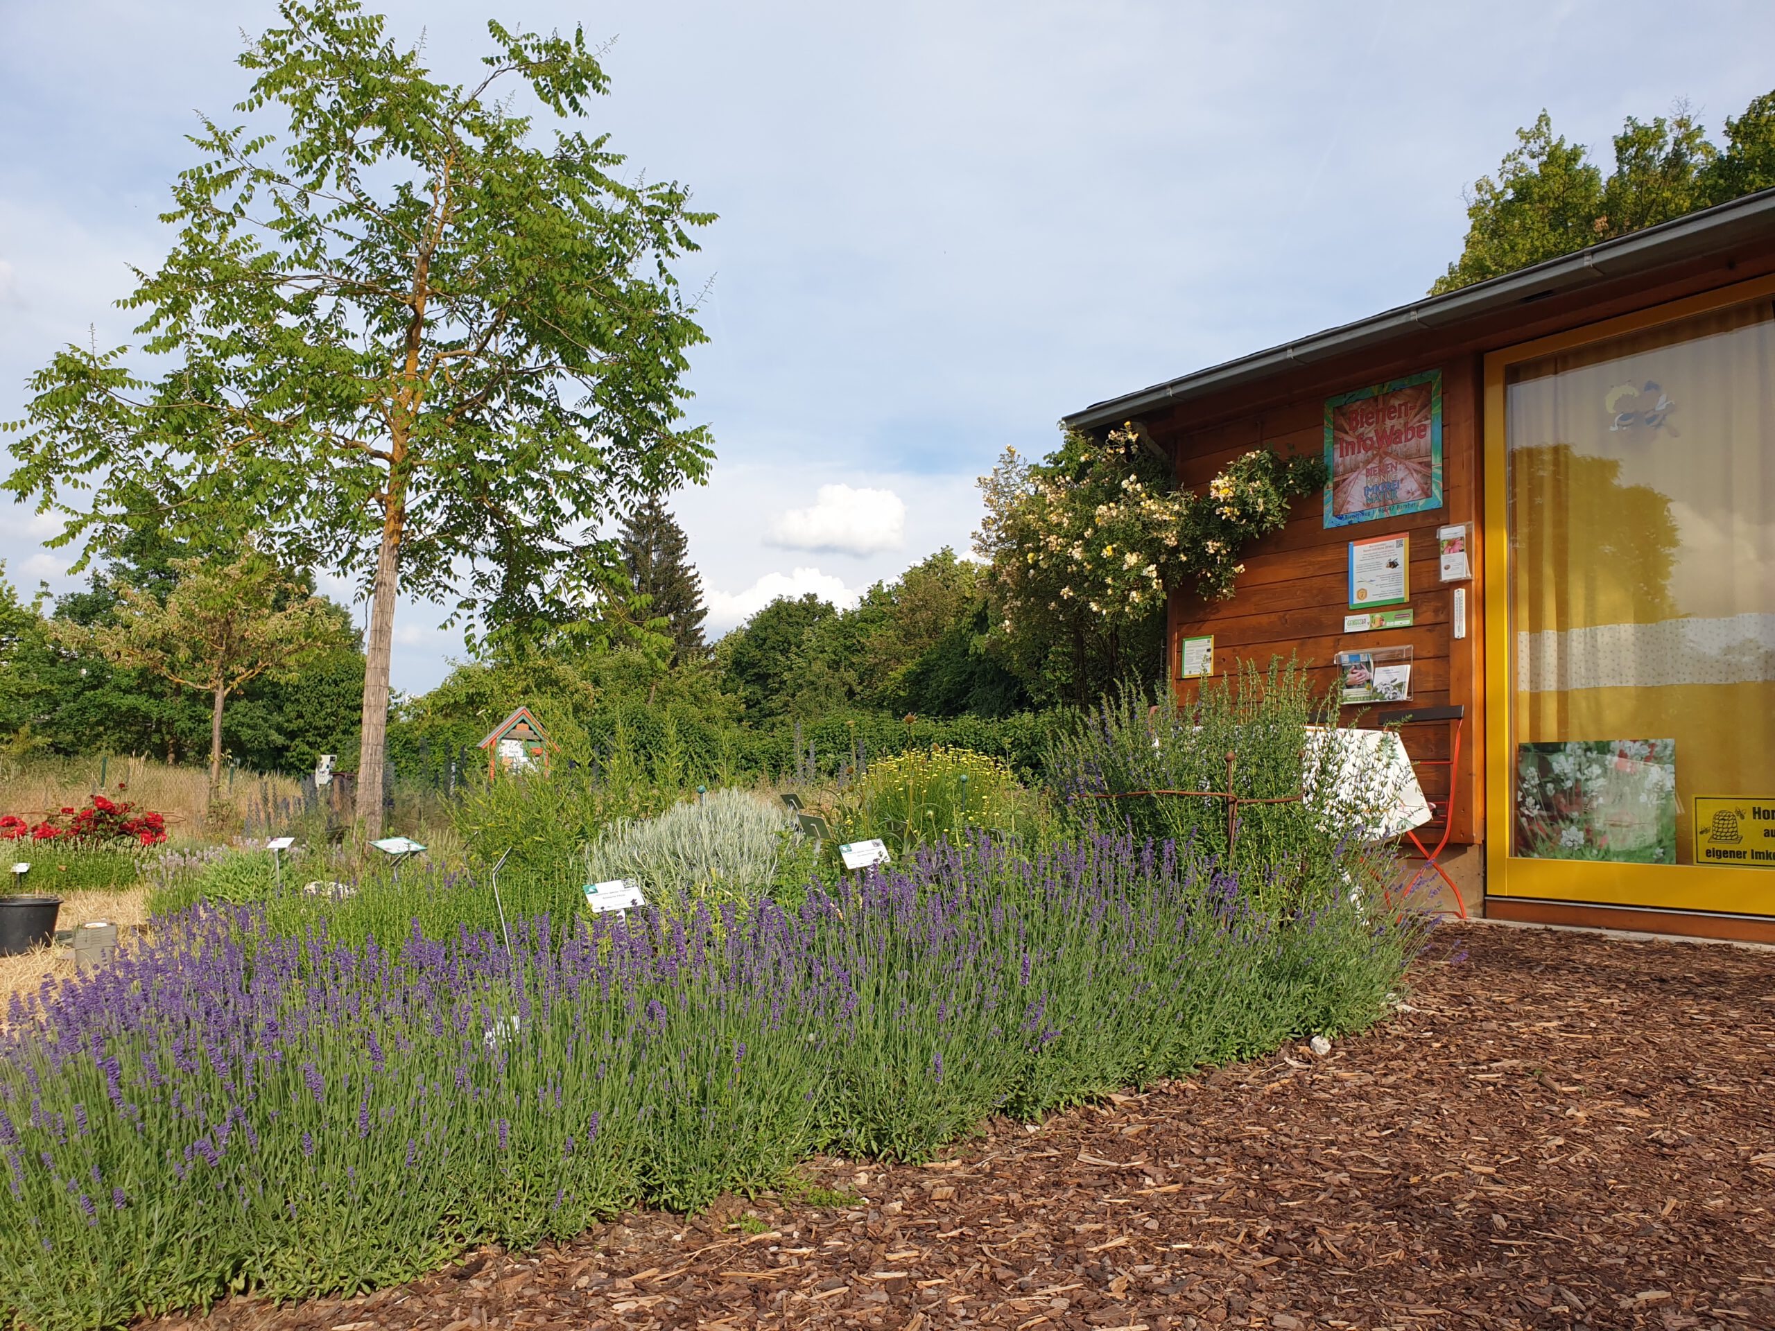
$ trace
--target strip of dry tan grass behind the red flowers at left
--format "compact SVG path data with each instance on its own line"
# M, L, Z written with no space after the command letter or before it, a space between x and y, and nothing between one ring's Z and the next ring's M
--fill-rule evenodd
M99 790L165 815L174 836L197 836L209 774L201 767L167 767L149 758L0 758L0 813L37 820L55 809L80 807ZM121 790L119 790L121 788ZM300 799L302 784L286 776L224 774L222 795L236 806L252 799Z

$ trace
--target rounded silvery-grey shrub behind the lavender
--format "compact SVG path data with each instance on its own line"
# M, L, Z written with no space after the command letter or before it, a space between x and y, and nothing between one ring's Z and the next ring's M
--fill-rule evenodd
M586 848L586 882L634 878L650 900L758 900L797 861L795 822L747 790L715 790L659 818L625 818Z

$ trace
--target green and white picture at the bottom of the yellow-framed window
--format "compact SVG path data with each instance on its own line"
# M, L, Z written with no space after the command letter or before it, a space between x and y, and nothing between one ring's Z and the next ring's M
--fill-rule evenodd
M1676 864L1676 740L1516 745L1514 855Z

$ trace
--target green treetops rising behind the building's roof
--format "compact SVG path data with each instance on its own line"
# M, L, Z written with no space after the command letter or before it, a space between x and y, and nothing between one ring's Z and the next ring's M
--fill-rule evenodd
M1496 176L1473 183L1461 257L1436 279L1431 295L1775 185L1775 92L1755 98L1743 115L1727 117L1724 151L1683 105L1668 119L1629 115L1615 135L1615 167L1606 179L1583 144L1553 133L1544 110L1516 138Z

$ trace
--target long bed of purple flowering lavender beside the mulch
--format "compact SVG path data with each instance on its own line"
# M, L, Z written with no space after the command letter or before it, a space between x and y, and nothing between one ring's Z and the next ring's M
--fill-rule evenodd
M1347 902L1267 914L1129 836L928 847L795 910L534 914L509 949L197 909L12 1003L0 1310L59 1331L346 1294L822 1148L923 1159L992 1113L1372 1022L1416 941Z

